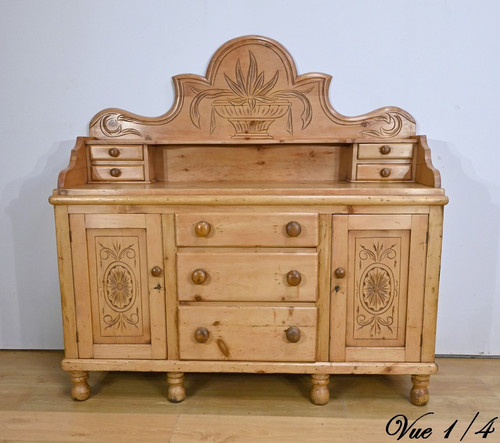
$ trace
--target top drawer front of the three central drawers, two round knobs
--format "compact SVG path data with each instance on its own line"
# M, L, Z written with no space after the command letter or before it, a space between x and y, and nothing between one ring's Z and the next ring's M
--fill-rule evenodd
M178 246L317 246L317 214L177 214Z

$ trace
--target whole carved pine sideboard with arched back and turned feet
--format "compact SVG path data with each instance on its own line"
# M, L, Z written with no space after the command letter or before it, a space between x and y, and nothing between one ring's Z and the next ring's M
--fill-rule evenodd
M160 117L110 108L50 197L72 396L89 371L407 374L427 403L443 207L396 107L346 117L279 43L224 44Z

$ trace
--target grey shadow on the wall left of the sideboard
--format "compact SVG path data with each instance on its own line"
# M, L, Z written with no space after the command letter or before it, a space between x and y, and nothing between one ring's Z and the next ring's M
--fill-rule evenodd
M74 141L54 144L26 178L5 187L2 199L11 200L14 248L14 294L2 306L4 345L8 348L62 349L62 321L57 271L54 211L48 197L66 168ZM19 341L19 342L18 342Z

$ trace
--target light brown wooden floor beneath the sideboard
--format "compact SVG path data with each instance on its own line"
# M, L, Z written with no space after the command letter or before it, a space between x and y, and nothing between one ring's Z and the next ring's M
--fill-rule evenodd
M0 351L0 441L390 442L400 435L386 434L392 417L432 412L416 424L432 428L425 441L452 442L479 412L462 441L500 442L499 419L486 439L474 434L500 415L500 359L439 359L424 407L408 401L409 376L332 376L330 403L315 406L309 376L187 374L186 400L171 404L164 374L123 372L91 373L92 396L79 403L61 359Z

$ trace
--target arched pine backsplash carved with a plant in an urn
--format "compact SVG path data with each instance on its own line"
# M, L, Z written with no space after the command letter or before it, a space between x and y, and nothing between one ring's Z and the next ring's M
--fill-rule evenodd
M395 107L346 117L328 99L331 77L297 75L283 46L266 37L239 37L224 44L206 77L174 77L175 101L166 114L141 117L105 109L90 123L90 136L142 140L231 139L287 141L392 139L415 135L411 115Z

